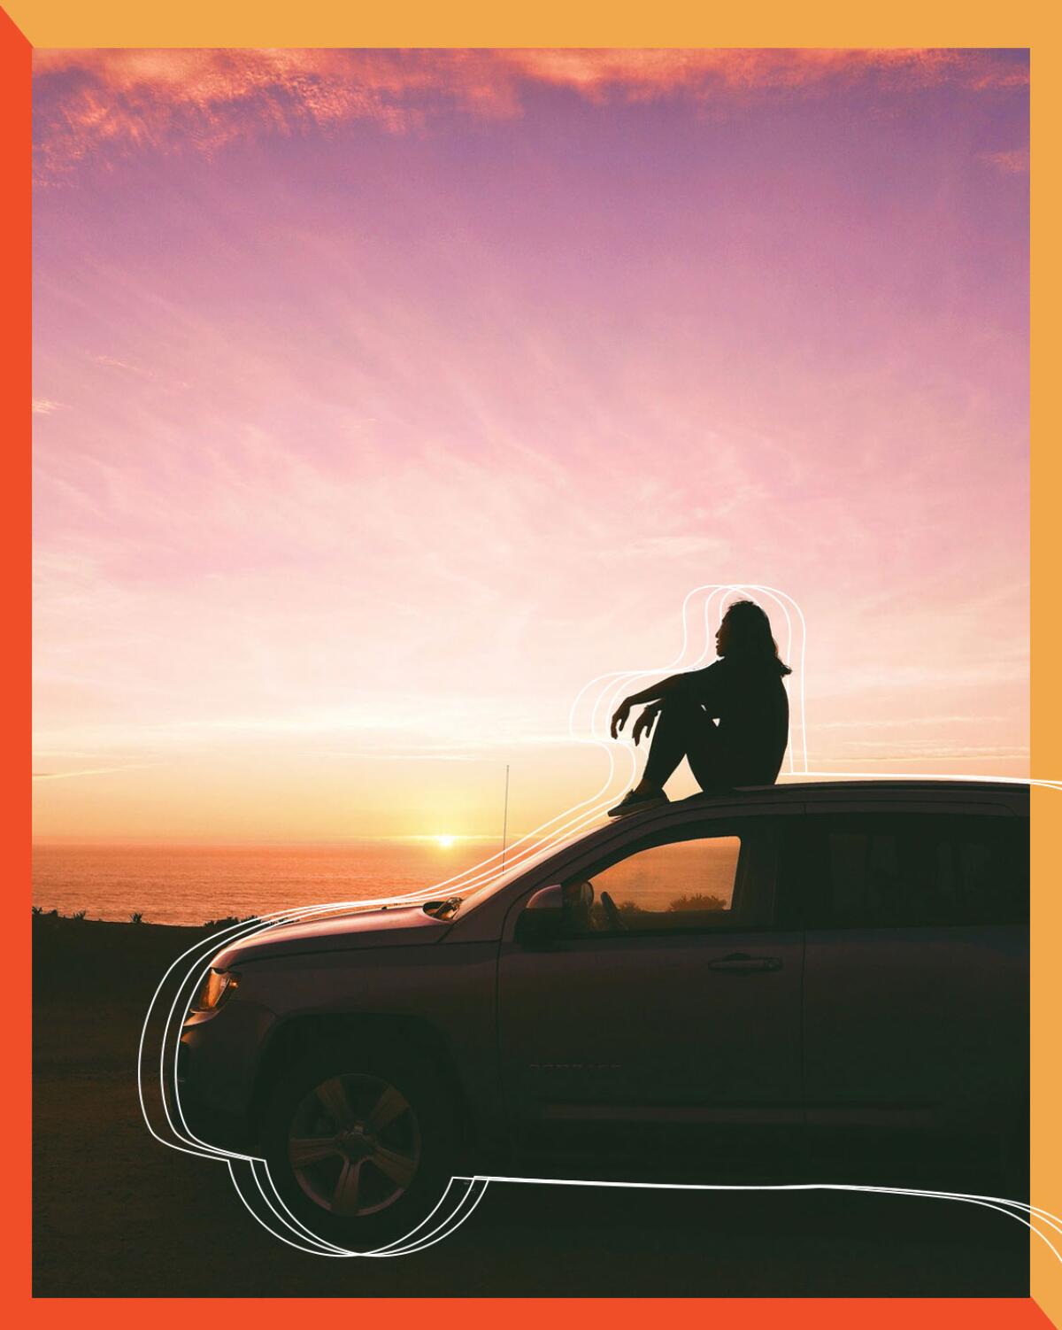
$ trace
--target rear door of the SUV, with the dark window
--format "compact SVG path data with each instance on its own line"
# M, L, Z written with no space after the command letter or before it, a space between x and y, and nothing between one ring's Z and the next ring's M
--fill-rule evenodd
M1027 819L856 809L805 825L812 1145L958 1145L1013 1121L1029 1077Z

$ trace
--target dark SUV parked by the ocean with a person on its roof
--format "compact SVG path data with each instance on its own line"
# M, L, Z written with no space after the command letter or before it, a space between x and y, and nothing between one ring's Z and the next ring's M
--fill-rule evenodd
M205 1141L364 1248L452 1174L909 1185L1027 1158L1029 790L791 783L259 931L181 1033Z

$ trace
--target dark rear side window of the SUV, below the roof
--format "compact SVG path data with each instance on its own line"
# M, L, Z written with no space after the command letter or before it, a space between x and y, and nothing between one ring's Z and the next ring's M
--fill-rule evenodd
M1029 920L1025 819L872 814L813 818L811 825L812 926Z

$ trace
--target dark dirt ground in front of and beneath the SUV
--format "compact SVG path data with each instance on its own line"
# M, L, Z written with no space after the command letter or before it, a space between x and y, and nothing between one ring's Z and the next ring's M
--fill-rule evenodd
M1027 1297L1027 1232L954 1201L492 1184L425 1252L283 1246L226 1169L154 1141L136 1047L166 964L202 932L35 927L37 1297Z

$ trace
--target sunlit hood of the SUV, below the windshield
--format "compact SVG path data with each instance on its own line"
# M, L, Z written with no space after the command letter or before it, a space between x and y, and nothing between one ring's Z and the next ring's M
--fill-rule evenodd
M433 919L420 906L387 906L354 910L327 919L272 924L214 958L215 970L229 970L246 960L294 956L312 951L350 951L355 947L411 947L439 942L449 932L449 920Z

